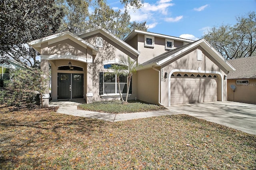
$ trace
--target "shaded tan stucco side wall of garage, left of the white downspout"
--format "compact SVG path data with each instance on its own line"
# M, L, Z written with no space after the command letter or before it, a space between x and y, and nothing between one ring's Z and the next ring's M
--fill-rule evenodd
M138 97L141 101L158 104L158 71L146 69L138 71Z

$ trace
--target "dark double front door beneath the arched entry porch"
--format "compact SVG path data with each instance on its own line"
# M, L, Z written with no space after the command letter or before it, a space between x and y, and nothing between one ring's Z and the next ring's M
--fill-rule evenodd
M84 98L84 74L58 73L58 99Z

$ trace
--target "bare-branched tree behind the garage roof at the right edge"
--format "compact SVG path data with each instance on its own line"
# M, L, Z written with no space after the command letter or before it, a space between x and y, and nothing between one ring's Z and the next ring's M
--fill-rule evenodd
M214 26L203 38L226 59L256 55L256 13L249 12L236 20L234 26Z

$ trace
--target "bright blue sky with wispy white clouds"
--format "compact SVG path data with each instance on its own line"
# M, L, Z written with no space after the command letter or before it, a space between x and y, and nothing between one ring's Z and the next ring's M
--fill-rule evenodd
M107 0L124 11L119 0ZM129 9L132 21L147 21L148 31L198 40L212 26L235 24L236 16L256 11L256 0L144 0L142 8Z

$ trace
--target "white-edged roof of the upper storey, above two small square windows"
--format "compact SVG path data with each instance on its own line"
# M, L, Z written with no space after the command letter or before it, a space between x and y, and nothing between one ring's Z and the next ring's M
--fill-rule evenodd
M147 32L147 31L142 31L142 30L133 30L133 31L124 39L124 41L126 42L126 41L131 40L131 39L134 38L134 36L136 36L137 34L143 34L143 35L154 36L154 37L160 37L160 38L167 38L167 39L178 40L178 41L182 41L182 42L194 42L194 40L188 40L188 39L185 39L185 38L167 36L167 35L164 35L164 34L157 34L157 33Z

